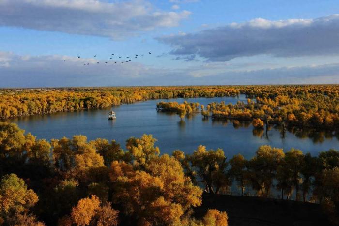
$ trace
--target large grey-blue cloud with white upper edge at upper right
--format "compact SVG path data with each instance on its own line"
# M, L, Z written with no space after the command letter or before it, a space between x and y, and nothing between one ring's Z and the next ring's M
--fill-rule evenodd
M158 40L173 47L171 54L196 54L210 61L260 54L274 57L331 55L339 52L339 14L278 21L258 18Z

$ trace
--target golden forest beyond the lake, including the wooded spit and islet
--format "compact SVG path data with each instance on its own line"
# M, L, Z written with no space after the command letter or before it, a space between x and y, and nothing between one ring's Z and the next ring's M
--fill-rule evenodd
M200 105L201 114L214 119L255 121L257 125L263 122L332 131L339 128L339 85L3 89L0 90L0 119L106 108L150 99L239 94L247 96L247 103ZM198 106L197 103L162 102L157 108L177 112L183 118L186 114L198 112Z

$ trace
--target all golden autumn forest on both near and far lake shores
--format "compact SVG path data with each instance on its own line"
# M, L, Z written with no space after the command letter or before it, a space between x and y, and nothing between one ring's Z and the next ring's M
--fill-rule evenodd
M247 101L160 101L154 111L174 112L178 120L195 115L248 122L258 131L279 126L339 133L338 85L0 90L0 225L227 226L226 211L207 208L197 214L204 194L315 203L328 222L338 225L335 149L311 155L261 145L245 158L197 144L189 154L161 154L156 135L133 136L125 144L82 135L45 140L6 122L146 100L239 94Z

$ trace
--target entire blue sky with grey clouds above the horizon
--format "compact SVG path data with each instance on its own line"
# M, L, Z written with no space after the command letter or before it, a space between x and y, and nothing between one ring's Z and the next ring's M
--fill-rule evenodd
M338 0L0 0L1 88L324 83Z

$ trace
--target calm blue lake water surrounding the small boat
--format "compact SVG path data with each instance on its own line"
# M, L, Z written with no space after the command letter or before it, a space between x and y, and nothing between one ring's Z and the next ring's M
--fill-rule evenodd
M211 102L225 101L235 104L238 100L246 102L244 95L238 97L191 98L189 102L199 102L207 105ZM110 109L84 110L79 112L56 113L44 116L29 116L10 119L26 132L31 132L38 138L61 138L82 134L89 140L98 137L108 140L115 139L124 147L125 140L131 136L152 134L158 142L156 145L161 153L171 153L180 149L192 153L198 145L208 149L222 148L227 156L242 153L245 157L253 156L256 149L264 144L273 147L297 148L304 152L317 154L330 148L339 150L339 137L332 133L315 133L312 138L286 132L284 140L277 128L271 128L266 133L253 132L252 125L234 128L231 121L203 120L201 115L186 117L181 121L176 114L162 113L155 110L156 103L162 100L150 100L130 105L114 106L117 119L107 119ZM163 101L183 102L184 99Z

